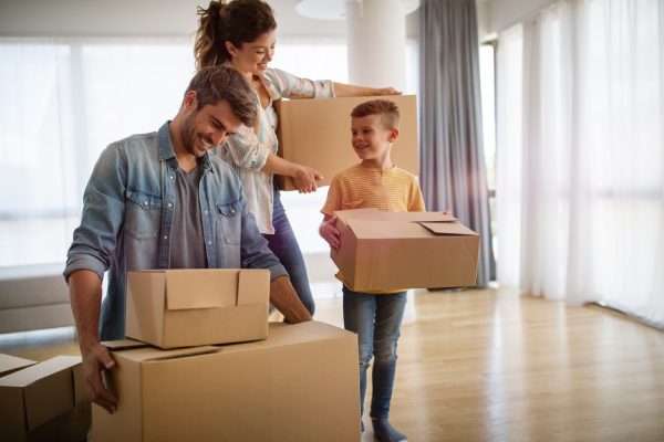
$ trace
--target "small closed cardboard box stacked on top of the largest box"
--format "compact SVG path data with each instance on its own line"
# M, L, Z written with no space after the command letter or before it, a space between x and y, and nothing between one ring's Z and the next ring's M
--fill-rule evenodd
M268 337L268 270L129 272L126 336L160 348Z

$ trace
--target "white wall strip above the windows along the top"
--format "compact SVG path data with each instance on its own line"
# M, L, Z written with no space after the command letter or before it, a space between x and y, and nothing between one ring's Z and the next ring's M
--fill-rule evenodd
M271 0L279 35L345 36L339 20L314 20L295 12L298 0ZM0 36L191 36L197 6L209 0L0 0ZM417 13L406 20L417 34Z

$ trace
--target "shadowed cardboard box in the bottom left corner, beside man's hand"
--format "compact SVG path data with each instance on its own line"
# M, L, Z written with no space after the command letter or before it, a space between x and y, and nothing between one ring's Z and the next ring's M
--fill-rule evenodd
M80 356L58 356L0 379L0 440L84 441L91 415Z

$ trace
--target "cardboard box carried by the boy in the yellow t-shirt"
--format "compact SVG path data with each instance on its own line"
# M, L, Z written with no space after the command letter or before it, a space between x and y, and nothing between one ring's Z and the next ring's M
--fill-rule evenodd
M357 292L475 286L479 235L440 212L341 210L330 256Z

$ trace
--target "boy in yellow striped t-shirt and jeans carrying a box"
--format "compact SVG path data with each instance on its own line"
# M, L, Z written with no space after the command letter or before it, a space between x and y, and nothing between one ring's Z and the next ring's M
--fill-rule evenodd
M423 212L424 200L415 177L392 164L390 151L398 137L398 108L393 102L374 99L351 113L352 145L361 162L338 173L330 185L319 233L333 250L340 246L334 211L376 208L393 212ZM343 275L336 274L342 282ZM343 320L357 334L360 349L360 400L364 411L366 369L375 357L371 420L380 441L405 441L390 424L390 401L396 371L396 344L406 305L406 291L357 293L343 286ZM364 429L364 424L362 424Z

